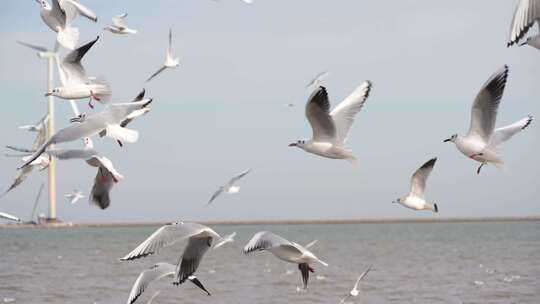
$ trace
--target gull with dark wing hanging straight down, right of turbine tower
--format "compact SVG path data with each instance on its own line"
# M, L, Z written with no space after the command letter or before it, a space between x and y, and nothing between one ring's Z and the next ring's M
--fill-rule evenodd
M90 191L90 203L97 205L101 209L107 209L111 203L109 193L113 184L118 183L124 177L114 168L110 159L99 155L94 150L94 145L90 138L84 138L84 143L84 149L53 149L46 153L60 160L83 159L88 165L97 167L98 172L94 179L92 190Z

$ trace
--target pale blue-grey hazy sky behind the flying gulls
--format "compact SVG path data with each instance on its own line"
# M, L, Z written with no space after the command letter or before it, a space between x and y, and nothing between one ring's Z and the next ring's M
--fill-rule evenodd
M2 145L29 146L33 134L17 126L45 114L46 65L15 40L52 46L56 36L34 1L4 2L0 138ZM88 74L111 83L114 102L129 101L144 87L154 103L131 125L139 142L120 148L111 139L94 141L125 176L108 209L89 206L86 198L69 205L64 194L81 189L88 195L96 169L82 161L57 163L58 217L130 222L539 215L536 121L502 147L502 170L484 167L480 175L478 163L442 142L467 132L474 97L503 64L510 73L497 125L540 113L540 51L506 48L516 2L82 1L99 17L97 24L84 18L74 24L80 43L100 36L83 60ZM102 31L123 12L138 34ZM145 83L163 63L169 27L180 67ZM347 143L357 167L287 146L311 136L304 87L324 70L330 72L324 84L333 105L364 80L373 83ZM79 108L92 112L86 101ZM56 112L57 127L67 126L73 116L68 103L57 99ZM438 161L426 195L440 213L391 204L432 157ZM16 158L0 157L0 188L9 187L18 165ZM217 187L247 168L253 171L240 182L240 193L204 207ZM44 181L45 172L34 172L0 200L0 211L26 219ZM38 210L46 212L46 196Z

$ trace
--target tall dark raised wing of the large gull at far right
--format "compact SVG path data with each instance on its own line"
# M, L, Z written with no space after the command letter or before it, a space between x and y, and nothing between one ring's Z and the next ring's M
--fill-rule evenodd
M508 78L508 66L503 66L482 86L471 110L468 137L488 143L495 128L497 111Z

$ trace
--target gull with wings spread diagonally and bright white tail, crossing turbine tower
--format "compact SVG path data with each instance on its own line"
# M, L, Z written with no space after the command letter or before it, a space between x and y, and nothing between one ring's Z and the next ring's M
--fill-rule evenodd
M38 158L48 146L52 144L75 141L77 139L91 137L103 130L107 130L107 136L116 140L133 143L139 138L139 133L135 130L123 128L120 123L124 121L133 111L140 110L152 102L152 99L145 99L138 102L115 103L105 106L105 108L95 114L81 114L72 119L69 127L58 130L45 143L36 150L34 154L20 167L26 167L30 162Z

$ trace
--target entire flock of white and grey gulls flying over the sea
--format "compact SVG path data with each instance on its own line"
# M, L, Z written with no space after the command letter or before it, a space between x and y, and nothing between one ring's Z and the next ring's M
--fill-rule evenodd
M72 23L78 16L97 22L98 17L91 9L79 0L51 0L50 3L47 0L36 0L36 2L40 5L40 16L43 22L56 33L55 46L50 50L27 42L17 42L37 51L41 58L55 59L61 83L46 92L46 96L75 101L88 99L91 113L79 113L75 107L75 116L71 119L71 123L50 135L47 132L48 116L44 116L35 124L19 127L28 132L35 132L36 138L30 148L7 146L8 149L16 152L16 154L9 154L9 156L19 157L22 164L18 167L14 182L2 196L23 183L34 169L41 171L47 168L52 158L58 160L78 159L97 168L97 174L88 198L91 203L101 209L106 209L111 204L111 188L123 179L123 175L115 169L109 158L94 148L91 138L96 135L100 138L109 137L115 140L120 147L123 147L125 143L137 142L139 132L127 128L127 125L135 118L148 113L150 111L149 105L153 99L145 98L146 92L143 89L131 101L113 103L111 102L112 89L109 83L105 79L87 75L82 60L99 41L99 36L87 43L79 44L79 30L73 27ZM252 3L252 1L247 0L243 2ZM137 34L136 29L127 26L127 16L127 13L114 16L112 24L107 25L103 30L116 35ZM540 0L520 0L511 22L507 46L529 45L540 49L540 34L525 38L535 23L540 29ZM67 54L60 60L59 50L61 48L66 49ZM175 69L179 65L180 58L173 54L173 34L172 29L169 28L165 62L148 77L147 82L152 81L163 71ZM368 80L362 82L331 110L327 88L322 85L328 74L328 71L319 73L305 87L306 90L312 91L305 105L305 116L312 129L311 138L299 139L289 146L297 147L323 158L346 160L356 165L357 158L353 151L346 147L346 142L350 137L350 129L356 116L369 99L373 84ZM477 174L481 172L483 166L488 164L502 166L504 162L497 148L527 128L533 120L531 115L527 115L513 124L496 128L498 108L508 77L509 67L507 65L495 71L480 87L474 98L470 126L466 135L454 134L444 140L444 142L454 143L463 155L479 163ZM97 104L101 105L99 111L94 109ZM287 104L287 106L294 105ZM56 145L77 140L81 140L83 143L83 147L80 149L56 147ZM432 158L416 170L411 177L409 193L397 198L394 203L413 210L439 212L438 204L425 198L427 179L433 171L436 161L436 157ZM223 193L239 192L238 182L251 171L248 169L241 172L220 186L210 197L206 206L213 203ZM73 190L65 195L66 200L71 204L84 197L85 195L80 190ZM20 218L3 212L0 212L0 218L21 221ZM129 293L127 303L135 303L151 282L165 277L172 279L174 285L190 281L205 294L210 295L210 291L196 276L199 264L208 250L215 250L233 242L235 235L236 233L232 233L222 237L212 228L194 222L177 221L160 227L120 260L142 259L178 242L185 242L185 248L176 264L161 262L144 269L137 277ZM243 252L251 254L255 251L269 251L282 261L296 264L301 274L303 287L307 289L309 274L314 272L314 265L328 266L326 262L309 250L315 243L316 241L302 246L272 232L260 231L255 233L244 246ZM359 283L370 270L371 266L358 277L353 289L341 299L340 303L345 303L351 297L356 297L359 294ZM159 291L151 297L148 303L152 302L158 293Z

